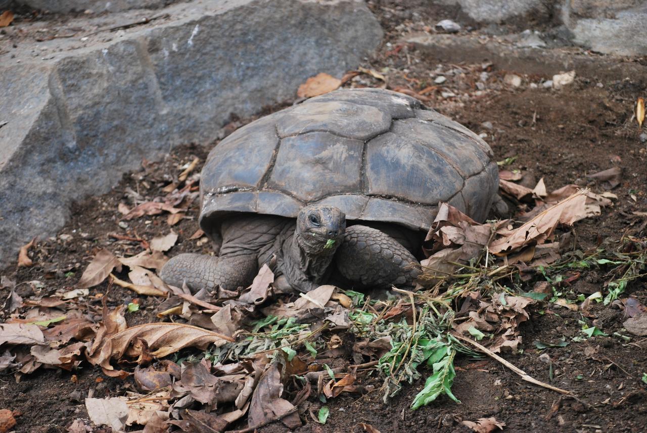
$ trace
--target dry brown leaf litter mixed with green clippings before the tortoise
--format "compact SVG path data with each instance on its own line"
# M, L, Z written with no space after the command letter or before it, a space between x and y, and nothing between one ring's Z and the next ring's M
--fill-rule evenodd
M520 180L514 173L507 178L509 184ZM166 201L156 203L177 206L192 194L190 188L182 190L175 187ZM385 401L405 383L426 377L411 401L413 410L441 396L458 401L452 392L457 356L516 353L522 339L520 324L532 312L550 305L587 312L591 302L621 299L627 284L644 272L644 240L639 238L623 238L615 250L564 253L558 227L599 215L602 207L611 206L613 195L580 191L574 185L548 193L543 181L529 191L510 185L501 190L525 209L521 214L525 221L479 224L441 204L424 242L428 259L422 262L425 271L419 286L413 292L394 291L401 297L371 299L334 286L294 297L274 288L274 275L267 267L240 292L192 294L186 288L166 286L155 274L168 260L163 251L177 242L177 235L160 239L160 244L153 239L145 251L131 257L100 249L76 288L27 302L11 292L5 304L24 319L0 324L0 370L19 377L43 365L70 370L90 363L113 377L134 374L144 394L86 400L95 424L118 429L149 425L162 431L175 425L187 432L195 428L220 432L245 417L249 426L245 431L274 421L296 428L302 424L300 405L311 394L334 399L374 390L361 384L362 375L381 375ZM122 206L120 211L126 209ZM128 209L124 215L149 214ZM123 267L129 269L132 282L114 274L122 275ZM560 297L568 284L568 278L560 278L564 269L580 268L606 269L608 275L604 295L586 298L581 306ZM529 276L545 282L549 293L521 291ZM101 321L89 319L79 301L101 295L88 289L104 280L138 295L159 297L161 317L181 322L129 326L125 305L111 309L105 304ZM633 317L640 318L641 312ZM632 332L631 326L626 328ZM584 331L589 337L601 332L595 326ZM344 332L355 335L353 363L344 361ZM335 360L336 366L329 367ZM525 380L532 379L506 365ZM285 399L286 387L300 397ZM329 416L333 415L325 405L311 409L311 418L318 423L326 423ZM505 425L494 419L471 422L464 421L475 431ZM367 424L360 427L377 431Z

